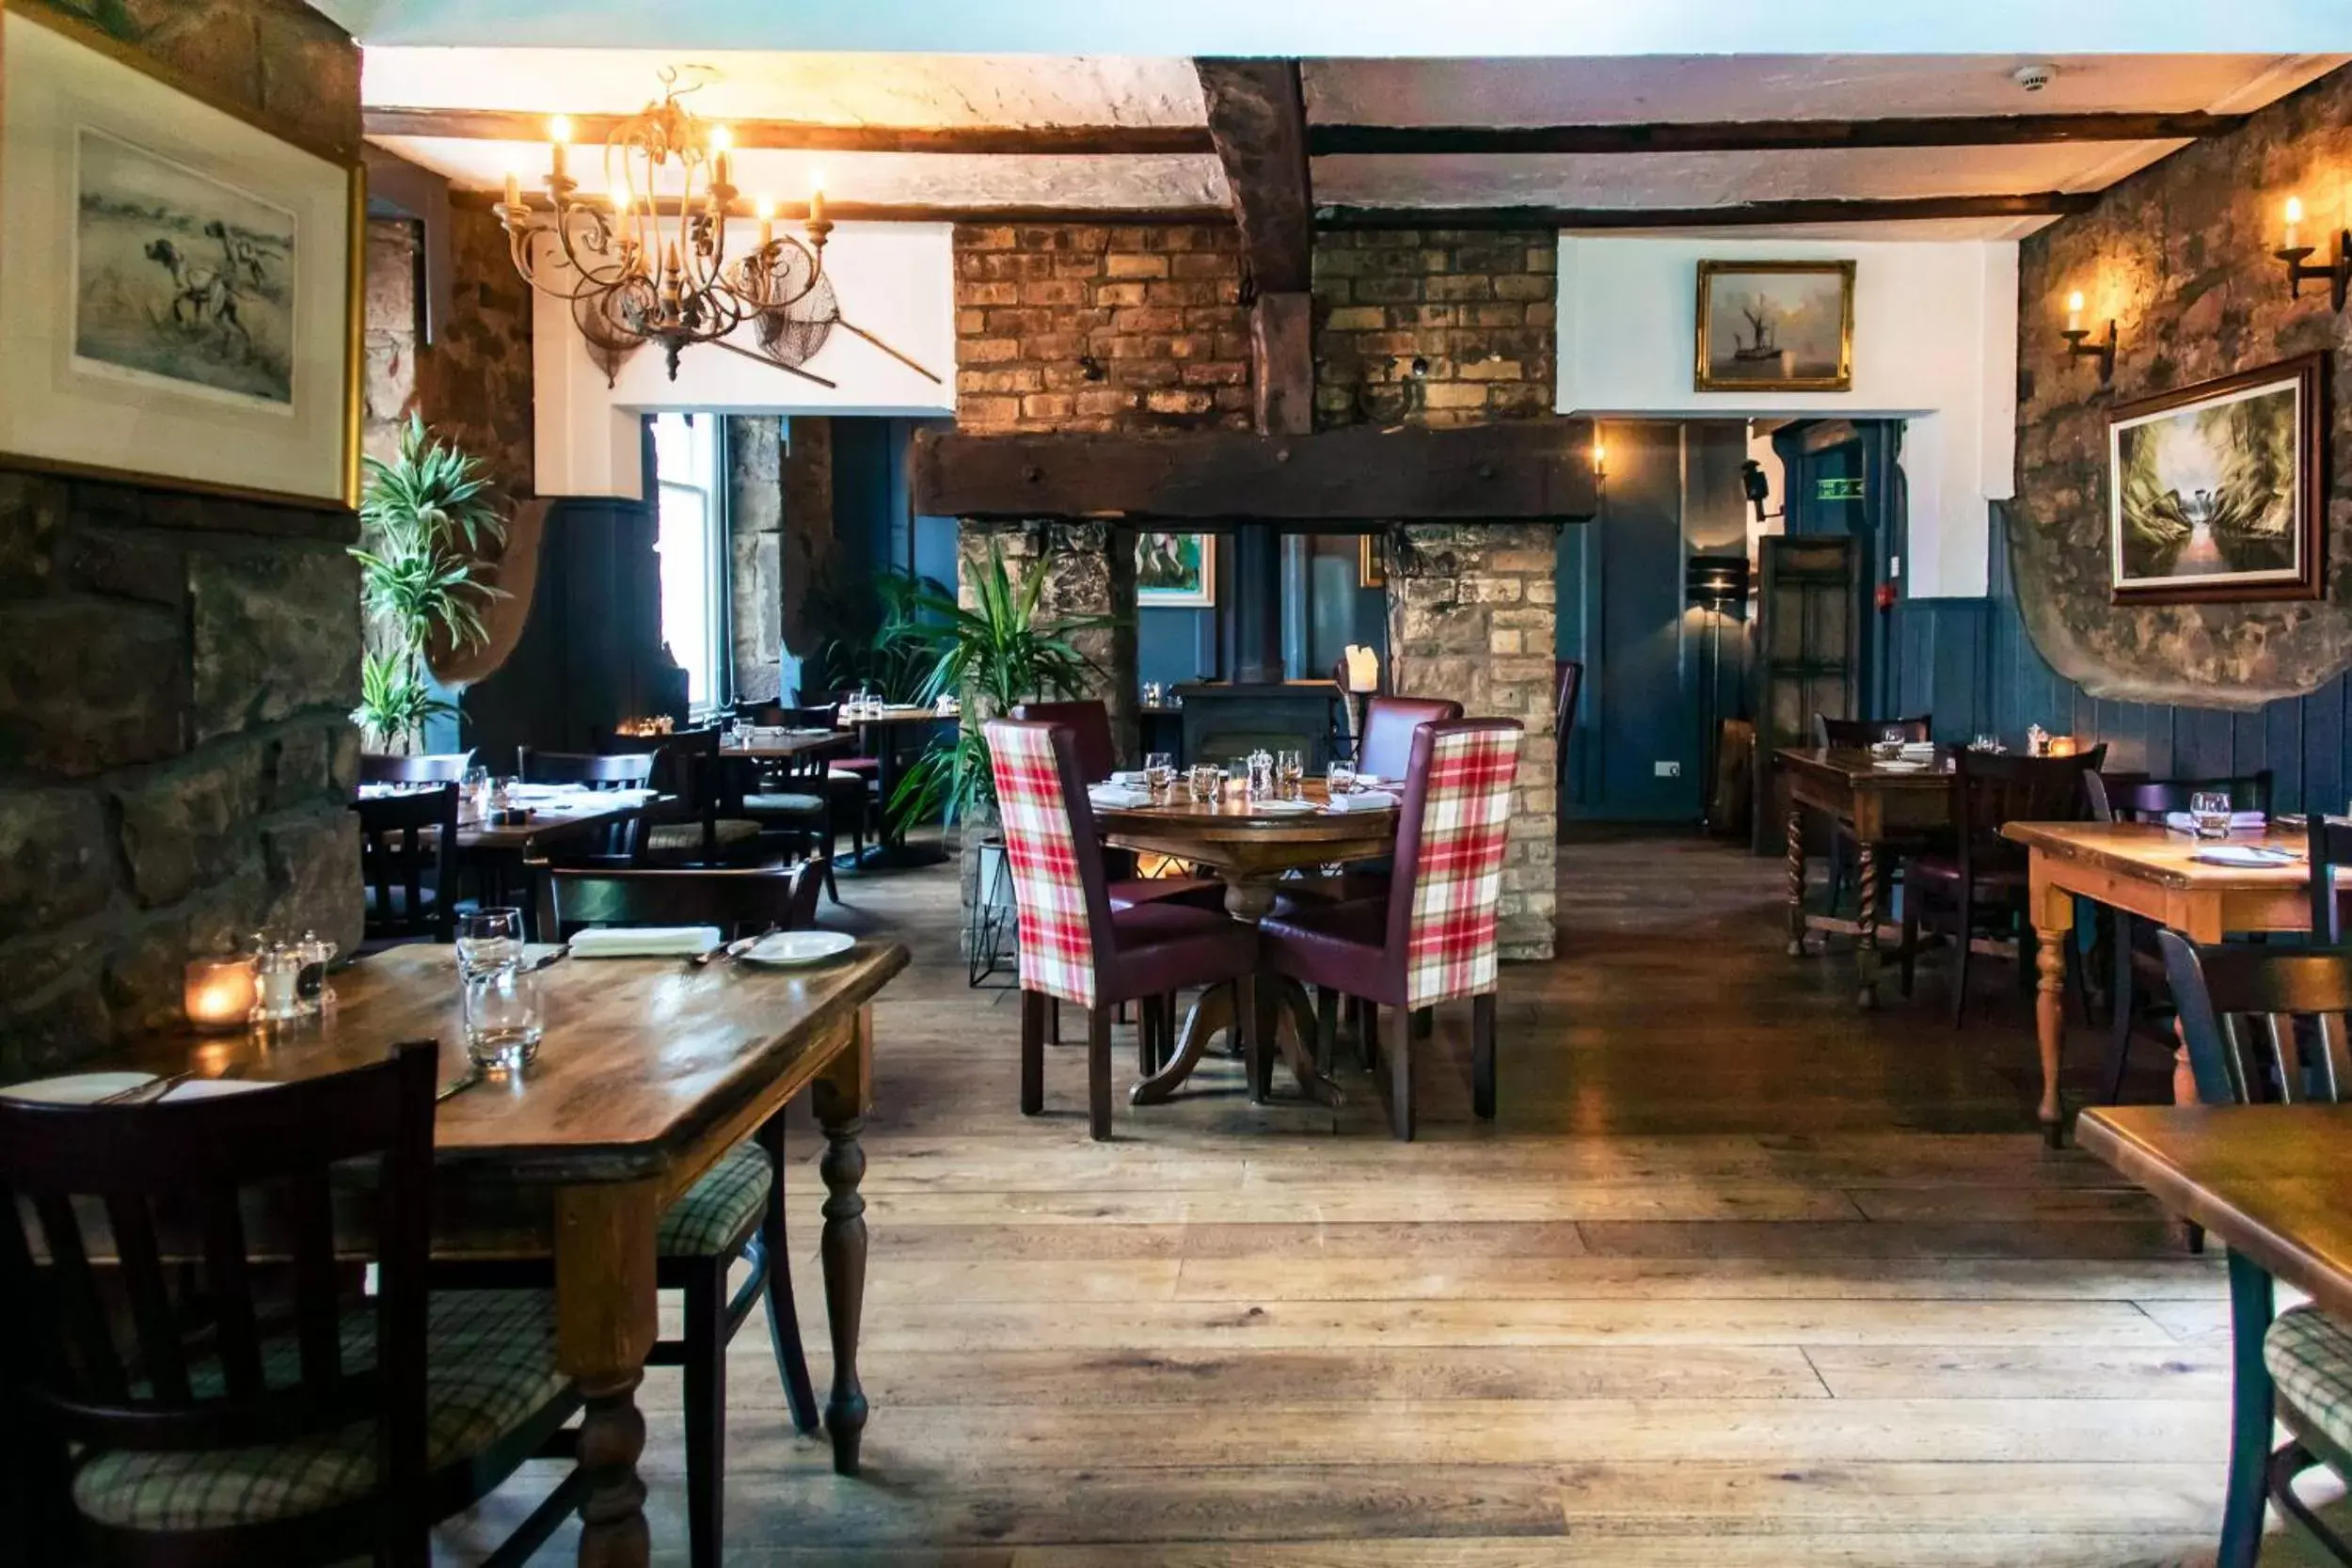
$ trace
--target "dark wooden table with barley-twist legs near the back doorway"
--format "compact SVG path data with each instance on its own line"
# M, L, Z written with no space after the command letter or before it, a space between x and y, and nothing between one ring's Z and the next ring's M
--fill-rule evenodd
M1804 954L1806 931L1856 938L1856 1004L1879 1001L1879 917L1886 910L1886 846L1952 827L1952 764L1886 766L1863 750L1785 745L1773 752L1788 780L1788 954ZM1804 907L1804 813L1820 811L1853 830L1853 919L1809 914Z

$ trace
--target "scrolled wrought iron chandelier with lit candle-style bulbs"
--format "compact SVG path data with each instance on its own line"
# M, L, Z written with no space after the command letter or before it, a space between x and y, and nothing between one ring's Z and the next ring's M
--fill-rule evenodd
M746 322L774 322L826 275L826 193L811 188L809 240L776 235L771 202L757 205L760 242L729 259L727 219L734 136L706 125L680 99L677 73L661 73L661 101L619 122L604 139L604 193L572 179L572 122L548 122L548 212L522 200L506 176L508 249L532 287L572 306L572 320L604 367L659 343L670 381L677 355L727 339Z

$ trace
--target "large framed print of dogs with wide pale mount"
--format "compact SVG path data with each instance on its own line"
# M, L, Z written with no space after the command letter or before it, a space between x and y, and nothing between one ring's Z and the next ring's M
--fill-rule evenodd
M358 503L360 169L101 33L0 26L0 454Z

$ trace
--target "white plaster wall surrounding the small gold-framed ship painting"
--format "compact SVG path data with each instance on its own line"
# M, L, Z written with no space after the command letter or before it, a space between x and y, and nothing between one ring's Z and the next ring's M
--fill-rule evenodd
M1853 390L1693 390L1700 259L1853 259ZM2016 386L2011 240L1559 237L1559 411L1910 421L1910 597L1985 592L1987 503L2016 475Z

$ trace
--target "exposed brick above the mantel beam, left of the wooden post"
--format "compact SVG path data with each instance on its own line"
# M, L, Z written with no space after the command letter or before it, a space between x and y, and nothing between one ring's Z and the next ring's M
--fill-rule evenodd
M1249 428L1249 310L1240 292L1240 240L1225 223L962 223L955 423Z

